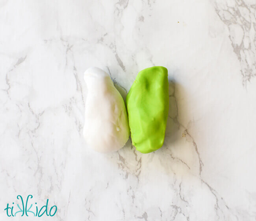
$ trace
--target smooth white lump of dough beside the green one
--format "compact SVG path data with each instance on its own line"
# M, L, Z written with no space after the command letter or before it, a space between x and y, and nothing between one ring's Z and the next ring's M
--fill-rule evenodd
M84 79L87 97L83 136L95 151L117 151L130 136L124 100L110 76L100 68L87 69Z

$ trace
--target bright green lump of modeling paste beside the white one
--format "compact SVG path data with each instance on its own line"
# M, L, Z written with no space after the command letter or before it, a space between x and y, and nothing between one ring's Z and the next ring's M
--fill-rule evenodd
M126 105L132 144L141 153L163 145L169 110L168 71L165 67L146 68L137 75Z

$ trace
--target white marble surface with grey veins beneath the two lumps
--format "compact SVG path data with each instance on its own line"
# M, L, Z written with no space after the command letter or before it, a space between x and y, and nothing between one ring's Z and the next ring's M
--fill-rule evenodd
M0 1L0 220L28 194L40 220L256 220L255 0ZM169 71L163 147L83 140L83 72L125 96ZM22 217L35 220L36 217Z

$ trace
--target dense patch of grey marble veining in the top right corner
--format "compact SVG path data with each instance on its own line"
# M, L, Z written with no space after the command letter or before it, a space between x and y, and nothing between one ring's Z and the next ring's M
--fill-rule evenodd
M217 1L215 10L229 30L229 38L241 65L243 84L256 76L255 28L256 3L253 1Z

